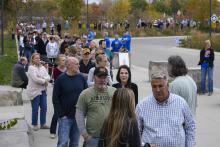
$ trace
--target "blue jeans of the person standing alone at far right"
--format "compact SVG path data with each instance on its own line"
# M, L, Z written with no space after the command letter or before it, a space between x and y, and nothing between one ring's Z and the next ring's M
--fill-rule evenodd
M213 68L201 67L201 92L206 92L206 76L208 74L208 92L213 92Z

